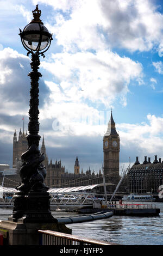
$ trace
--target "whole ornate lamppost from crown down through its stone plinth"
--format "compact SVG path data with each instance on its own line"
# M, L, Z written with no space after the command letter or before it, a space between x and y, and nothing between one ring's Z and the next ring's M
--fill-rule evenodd
M28 150L21 155L22 166L20 176L22 184L16 187L14 208L8 221L0 222L0 229L8 230L9 245L39 245L42 244L38 230L53 230L71 234L64 223L58 223L50 210L51 198L48 187L44 183L46 169L42 161L45 156L39 150L39 78L38 72L40 54L44 56L51 45L52 35L40 20L41 11L36 5L33 11L34 19L23 29L20 36L27 55L32 54L30 109L27 135Z

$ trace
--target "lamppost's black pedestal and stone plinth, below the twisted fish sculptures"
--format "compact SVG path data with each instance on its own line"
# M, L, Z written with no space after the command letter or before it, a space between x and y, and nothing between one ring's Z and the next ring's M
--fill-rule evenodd
M0 221L0 230L8 231L8 245L39 245L39 229L72 234L65 223L51 214L48 192L17 192L8 221Z

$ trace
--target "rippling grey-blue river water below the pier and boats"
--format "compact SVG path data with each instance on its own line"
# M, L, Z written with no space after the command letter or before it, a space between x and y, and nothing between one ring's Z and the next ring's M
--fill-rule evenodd
M163 203L159 217L112 216L107 219L66 224L72 234L119 245L163 245ZM12 209L0 209L0 220L8 220ZM77 216L72 212L55 212L54 217Z

